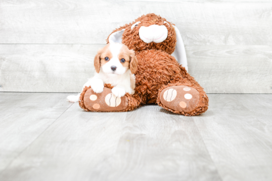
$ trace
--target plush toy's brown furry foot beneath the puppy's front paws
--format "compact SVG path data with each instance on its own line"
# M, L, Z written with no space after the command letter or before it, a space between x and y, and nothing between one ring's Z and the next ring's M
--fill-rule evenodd
M118 98L111 92L111 86L106 85L102 93L94 93L91 87L85 87L79 99L79 105L86 111L109 112L128 111L136 109L141 105L141 98L138 95L126 93Z

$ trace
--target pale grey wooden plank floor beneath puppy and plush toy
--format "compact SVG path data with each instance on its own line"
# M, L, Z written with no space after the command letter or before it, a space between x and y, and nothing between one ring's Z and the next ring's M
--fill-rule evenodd
M272 180L272 94L209 94L195 117L67 95L0 93L0 181Z

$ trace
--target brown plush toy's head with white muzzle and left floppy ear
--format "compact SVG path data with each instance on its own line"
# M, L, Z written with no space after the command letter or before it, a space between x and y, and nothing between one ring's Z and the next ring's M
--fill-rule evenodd
M155 14L146 14L134 22L126 24L112 32L107 41L117 41L135 51L156 49L169 54L175 51L177 42L175 27L165 18Z

